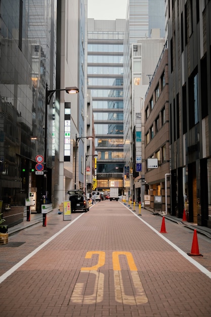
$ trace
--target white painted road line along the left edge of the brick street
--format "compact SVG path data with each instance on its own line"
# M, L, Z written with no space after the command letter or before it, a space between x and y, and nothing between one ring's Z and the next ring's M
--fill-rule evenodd
M73 224L76 220L78 220L82 215L85 215L85 213L82 213L77 218L75 218L73 221L68 223L64 228L59 230L57 233L52 235L48 240L46 240L43 244L41 244L39 247L37 247L34 251L29 253L25 258L23 258L20 262L15 264L13 267L11 267L7 272L5 272L3 275L0 276L0 284L5 281L8 276L10 276L13 272L15 272L21 265L23 265L26 261L28 261L34 254L36 254L38 251L43 249L46 245L48 245L52 240L54 240L60 233L62 233L64 230L66 230L71 224Z

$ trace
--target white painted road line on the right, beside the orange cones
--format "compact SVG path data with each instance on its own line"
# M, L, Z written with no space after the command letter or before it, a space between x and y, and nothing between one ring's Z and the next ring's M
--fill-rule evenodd
M123 204L122 204L123 205ZM203 265L195 261L191 256L187 255L183 250L181 250L178 246L176 246L173 242L166 239L164 235L162 235L160 232L158 232L155 228L153 228L149 223L144 221L141 217L139 217L137 214L135 214L131 209L129 209L127 206L123 205L125 208L130 210L130 212L135 215L139 220L141 220L143 223L145 223L150 229L152 229L157 235L159 235L165 242L167 242L169 245L171 245L175 250L177 250L186 260L191 262L193 265L195 265L202 273L206 274L209 279L211 279L211 272L207 270Z

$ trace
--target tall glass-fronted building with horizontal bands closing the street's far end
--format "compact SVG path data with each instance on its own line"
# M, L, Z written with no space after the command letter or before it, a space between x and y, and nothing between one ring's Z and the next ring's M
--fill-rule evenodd
M88 89L93 99L98 190L123 191L123 37L125 20L88 19Z

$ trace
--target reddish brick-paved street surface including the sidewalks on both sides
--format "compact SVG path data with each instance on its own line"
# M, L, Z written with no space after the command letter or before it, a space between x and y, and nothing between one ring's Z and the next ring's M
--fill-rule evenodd
M161 220L104 201L70 222L54 213L47 227L37 224L9 237L0 246L2 274L35 251L7 279L2 275L0 315L210 316L210 239L198 234L203 257L187 256L198 268L183 256L191 251L193 231L165 220L168 233L156 233Z

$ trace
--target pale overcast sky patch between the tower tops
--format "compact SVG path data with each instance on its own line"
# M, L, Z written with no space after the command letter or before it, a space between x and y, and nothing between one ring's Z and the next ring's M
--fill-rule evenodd
M88 18L125 19L128 0L88 0Z

